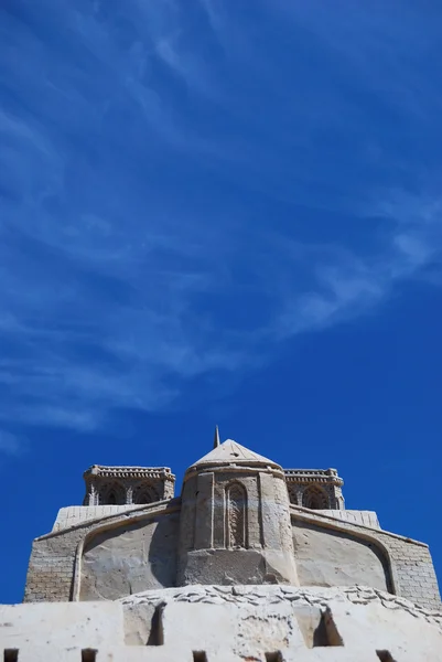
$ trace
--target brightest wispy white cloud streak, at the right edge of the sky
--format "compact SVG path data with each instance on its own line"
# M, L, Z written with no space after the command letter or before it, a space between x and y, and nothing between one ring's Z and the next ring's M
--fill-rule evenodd
M434 214L425 217L424 202L413 201L417 215L407 221L409 205L399 201L385 203L382 220L392 221L385 231L377 252L357 255L336 247L322 252L312 260L315 287L287 299L287 308L277 318L276 331L293 335L320 330L352 320L373 310L407 279L439 284L442 273L442 215L433 203ZM422 206L420 206L422 205ZM430 271L429 271L430 269Z

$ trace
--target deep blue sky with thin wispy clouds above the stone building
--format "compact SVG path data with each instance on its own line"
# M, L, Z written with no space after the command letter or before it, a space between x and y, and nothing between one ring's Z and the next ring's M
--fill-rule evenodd
M442 7L3 0L0 600L215 423L442 572Z

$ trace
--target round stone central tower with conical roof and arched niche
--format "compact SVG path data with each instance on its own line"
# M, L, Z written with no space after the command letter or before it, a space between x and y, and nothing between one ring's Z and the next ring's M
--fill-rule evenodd
M282 468L231 439L184 476L177 584L298 586Z

